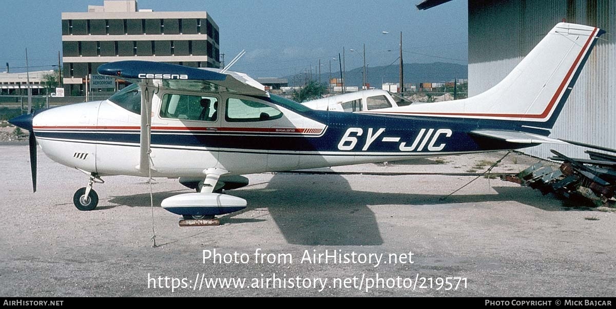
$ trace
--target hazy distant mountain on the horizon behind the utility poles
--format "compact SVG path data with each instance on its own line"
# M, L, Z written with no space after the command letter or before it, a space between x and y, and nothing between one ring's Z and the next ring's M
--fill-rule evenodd
M399 82L400 66L376 66L367 68L368 83L373 87L380 87L382 82ZM346 71L347 86L362 85L363 68L354 68ZM327 83L330 73L321 71L321 82ZM301 86L304 84L304 74L285 76L290 86ZM331 72L331 78L340 78L340 72ZM456 63L434 62L434 63L405 63L404 82L445 82L457 79L468 78L468 65L458 65ZM312 79L318 81L318 74L313 73Z

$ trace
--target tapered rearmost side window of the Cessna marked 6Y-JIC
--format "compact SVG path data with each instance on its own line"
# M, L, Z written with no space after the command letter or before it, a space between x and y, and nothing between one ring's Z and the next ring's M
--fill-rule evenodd
M263 103L228 98L225 120L229 122L268 121L282 118L282 112Z

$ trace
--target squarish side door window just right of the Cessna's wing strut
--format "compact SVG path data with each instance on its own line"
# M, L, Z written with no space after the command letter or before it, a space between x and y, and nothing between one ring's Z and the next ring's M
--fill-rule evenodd
M216 121L218 98L201 95L165 94L160 109L161 118Z

